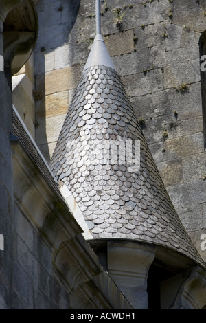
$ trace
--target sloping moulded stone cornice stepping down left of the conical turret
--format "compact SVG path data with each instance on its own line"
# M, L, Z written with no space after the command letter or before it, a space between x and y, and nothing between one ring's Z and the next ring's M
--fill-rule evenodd
M81 236L65 201L47 183L18 138L12 138L14 199L52 249L54 271L71 292L71 307L132 309ZM95 297L91 297L95 295ZM114 298L115 296L115 298ZM83 306L83 304L82 304Z

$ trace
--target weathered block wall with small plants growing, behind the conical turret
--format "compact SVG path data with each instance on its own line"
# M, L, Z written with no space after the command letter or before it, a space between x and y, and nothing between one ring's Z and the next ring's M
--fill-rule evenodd
M36 140L49 161L93 43L95 1L41 0L37 10ZM206 260L200 247L206 164L198 43L206 3L102 0L101 16L106 46L165 186Z

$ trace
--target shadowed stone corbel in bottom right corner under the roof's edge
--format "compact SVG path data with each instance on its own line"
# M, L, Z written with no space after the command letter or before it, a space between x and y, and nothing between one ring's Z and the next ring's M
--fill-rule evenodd
M161 284L161 309L203 309L206 270L196 266Z

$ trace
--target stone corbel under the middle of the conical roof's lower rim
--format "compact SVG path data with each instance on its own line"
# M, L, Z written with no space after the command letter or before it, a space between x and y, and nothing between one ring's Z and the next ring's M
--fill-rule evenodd
M134 309L148 309L147 278L155 247L126 241L109 241L108 273Z

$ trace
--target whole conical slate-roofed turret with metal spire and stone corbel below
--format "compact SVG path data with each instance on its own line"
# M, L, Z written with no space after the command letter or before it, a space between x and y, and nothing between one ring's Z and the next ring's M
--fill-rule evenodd
M97 34L50 166L60 190L76 199L89 243L108 273L134 308L147 309L156 282L205 265L108 55L98 0L96 8Z

